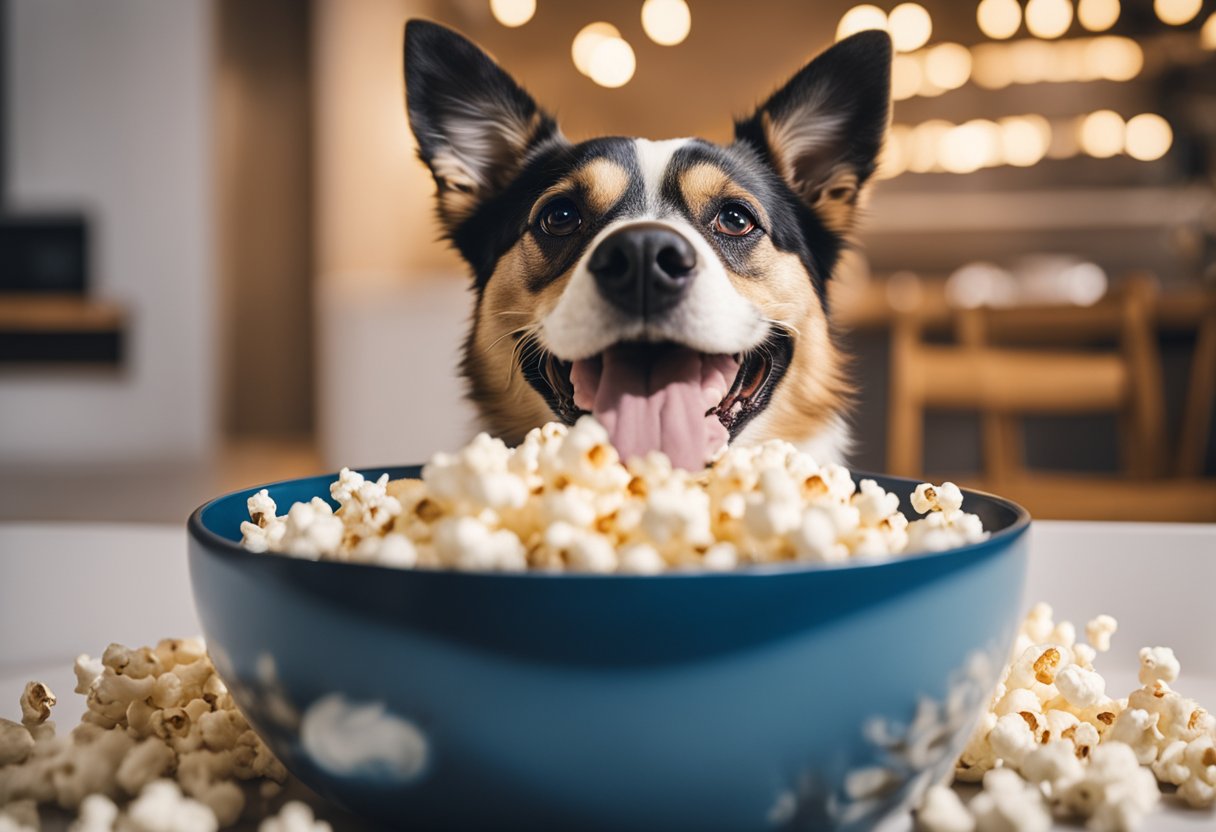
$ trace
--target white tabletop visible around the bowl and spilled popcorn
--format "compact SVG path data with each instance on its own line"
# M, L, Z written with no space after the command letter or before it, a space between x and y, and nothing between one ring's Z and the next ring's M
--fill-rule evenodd
M1142 646L1167 645L1182 662L1175 687L1216 710L1214 588L1216 524L1031 527L1026 605L1047 601L1057 620L1079 628L1098 613L1119 619L1111 652L1098 659L1113 696L1136 687ZM0 715L12 718L26 681L40 679L61 693L55 715L66 730L84 709L83 697L72 693L78 653L100 654L111 641L143 645L198 631L184 528L0 523ZM360 826L313 799L338 828ZM44 828L62 828L60 820ZM1214 827L1212 813L1187 810L1172 797L1145 826L1153 832Z

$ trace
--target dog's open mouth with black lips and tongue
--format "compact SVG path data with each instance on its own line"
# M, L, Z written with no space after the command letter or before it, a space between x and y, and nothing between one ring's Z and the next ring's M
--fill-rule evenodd
M563 422L592 414L623 459L662 450L674 465L696 471L769 406L794 342L773 328L736 355L670 342L623 342L579 361L563 361L539 344L520 354L524 377Z

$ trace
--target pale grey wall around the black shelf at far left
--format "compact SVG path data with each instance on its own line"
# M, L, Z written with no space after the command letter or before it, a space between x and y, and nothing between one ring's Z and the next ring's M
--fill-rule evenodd
M9 201L84 208L118 376L0 375L0 463L201 459L215 406L207 0L10 0Z

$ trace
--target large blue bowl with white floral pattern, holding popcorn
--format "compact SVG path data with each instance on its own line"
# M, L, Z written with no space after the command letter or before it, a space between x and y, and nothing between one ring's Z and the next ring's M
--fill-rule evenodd
M911 513L913 480L874 479ZM268 488L282 507L332 480ZM873 828L948 774L983 710L1030 525L968 491L992 535L948 552L424 572L249 553L255 490L190 517L212 658L294 775L410 828Z

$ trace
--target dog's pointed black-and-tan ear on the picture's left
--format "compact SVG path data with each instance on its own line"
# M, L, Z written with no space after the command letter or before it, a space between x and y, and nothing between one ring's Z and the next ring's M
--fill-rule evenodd
M530 151L561 140L553 119L494 58L438 23L405 26L405 91L449 234L519 173Z

